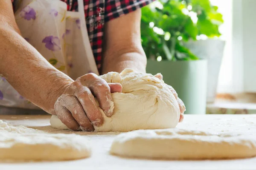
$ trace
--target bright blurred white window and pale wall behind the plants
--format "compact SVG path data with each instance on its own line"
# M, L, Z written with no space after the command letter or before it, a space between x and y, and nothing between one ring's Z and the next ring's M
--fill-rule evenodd
M226 40L218 92L256 92L256 0L211 0L223 14Z

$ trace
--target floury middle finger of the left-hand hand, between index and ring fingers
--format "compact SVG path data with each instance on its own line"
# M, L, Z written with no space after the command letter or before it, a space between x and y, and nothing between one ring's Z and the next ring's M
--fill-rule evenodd
M90 89L85 86L83 86L83 88L78 88L75 92L75 96L81 103L81 106L84 109L88 119L90 119L90 122L96 126L102 125L104 122L103 116L96 105L94 96Z

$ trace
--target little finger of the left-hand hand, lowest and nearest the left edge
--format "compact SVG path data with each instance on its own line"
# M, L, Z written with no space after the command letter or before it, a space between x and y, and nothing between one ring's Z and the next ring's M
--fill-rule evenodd
M76 122L76 120L73 118L70 111L67 110L67 108L58 104L55 104L54 108L58 119L60 119L64 125L66 125L71 130L80 130L80 125Z

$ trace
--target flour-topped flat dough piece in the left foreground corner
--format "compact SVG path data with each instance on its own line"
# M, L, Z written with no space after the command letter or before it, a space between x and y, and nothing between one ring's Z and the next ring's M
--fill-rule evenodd
M86 137L50 134L0 120L0 161L61 161L90 156Z

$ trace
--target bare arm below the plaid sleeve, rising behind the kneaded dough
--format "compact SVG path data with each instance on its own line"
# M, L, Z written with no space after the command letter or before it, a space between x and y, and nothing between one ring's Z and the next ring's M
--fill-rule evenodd
M141 9L105 25L102 74L125 68L145 73L146 56L140 39Z

